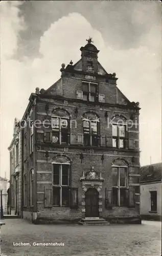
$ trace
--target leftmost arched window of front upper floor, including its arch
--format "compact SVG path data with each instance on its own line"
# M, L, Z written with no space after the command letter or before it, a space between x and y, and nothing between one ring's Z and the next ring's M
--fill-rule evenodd
M52 112L52 142L55 144L70 143L70 114L63 109Z

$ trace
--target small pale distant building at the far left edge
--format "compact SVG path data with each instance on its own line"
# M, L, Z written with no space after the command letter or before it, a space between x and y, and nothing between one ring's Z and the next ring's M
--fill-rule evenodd
M7 214L7 183L8 180L6 178L0 177L0 190L2 190L2 205L4 215ZM1 207L1 199L0 199L0 207Z

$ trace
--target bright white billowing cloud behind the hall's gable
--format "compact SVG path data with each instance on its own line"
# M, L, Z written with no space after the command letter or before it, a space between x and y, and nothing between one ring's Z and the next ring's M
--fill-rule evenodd
M24 114L28 98L35 88L47 89L60 77L61 63L80 59L80 47L91 36L100 50L99 61L108 73L117 73L118 87L131 101L141 103L141 163L160 159L160 58L157 31L143 37L136 49L119 50L106 42L80 13L59 18L40 37L39 56L15 59L19 33L27 28L19 12L19 3L2 4L2 66L1 66L1 169L9 173L7 146L12 140L14 117ZM152 39L151 44L149 40ZM140 38L141 40L141 38ZM152 127L150 122L153 122ZM156 126L155 127L155 123ZM149 124L149 125L148 125ZM159 124L159 125L158 125ZM7 136L5 136L7 134ZM146 136L146 134L148 136ZM149 138L149 139L148 139ZM151 147L151 145L153 145ZM157 152L155 151L155 148Z

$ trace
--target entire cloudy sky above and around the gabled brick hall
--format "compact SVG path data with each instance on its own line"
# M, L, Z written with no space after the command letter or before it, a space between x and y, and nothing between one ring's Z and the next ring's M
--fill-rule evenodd
M92 37L118 88L140 102L141 165L161 162L160 1L1 1L1 176L9 178L14 118L35 88L60 78Z

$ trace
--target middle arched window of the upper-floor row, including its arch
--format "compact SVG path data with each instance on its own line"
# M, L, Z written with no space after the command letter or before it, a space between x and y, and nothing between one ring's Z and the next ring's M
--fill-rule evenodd
M98 146L100 139L100 118L95 113L85 113L83 116L84 145Z

